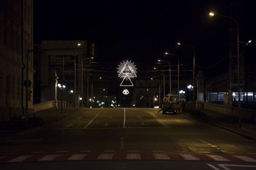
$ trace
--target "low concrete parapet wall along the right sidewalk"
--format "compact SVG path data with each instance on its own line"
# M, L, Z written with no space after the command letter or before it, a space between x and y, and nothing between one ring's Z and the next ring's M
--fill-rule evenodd
M226 105L218 105L218 104L205 102L204 103L204 109L214 111L214 112L219 112L219 113L222 113L222 114L225 114L225 115L231 115L231 108L229 106L226 106ZM256 122L255 110L241 108L240 112L241 112L241 118L242 119L245 119L245 120L248 120L248 121L253 120L254 122ZM235 117L238 117L239 110L238 110L237 107L234 107L233 115Z

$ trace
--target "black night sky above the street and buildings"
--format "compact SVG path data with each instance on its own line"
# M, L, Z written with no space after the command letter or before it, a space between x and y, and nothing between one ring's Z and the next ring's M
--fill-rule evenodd
M143 63L157 59L176 65L177 58L165 51L179 55L180 64L191 67L193 49L177 46L182 42L195 48L197 65L210 67L196 67L208 78L228 70L231 22L210 17L209 12L230 16L230 4L231 0L34 1L34 43L88 40L97 43L97 62L130 59L146 70L151 66ZM256 43L254 8L253 1L244 1L240 36ZM245 64L254 64L256 46L244 49Z

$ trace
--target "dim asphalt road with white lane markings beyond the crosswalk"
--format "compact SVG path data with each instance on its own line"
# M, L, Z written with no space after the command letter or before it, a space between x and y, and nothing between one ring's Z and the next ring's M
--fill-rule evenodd
M36 131L1 142L0 150L1 153L256 153L256 141L202 123L184 114L162 115L157 111L158 109L144 108L81 109ZM178 164L178 161L176 163ZM188 167L189 164L186 163ZM202 165L209 168L206 163Z

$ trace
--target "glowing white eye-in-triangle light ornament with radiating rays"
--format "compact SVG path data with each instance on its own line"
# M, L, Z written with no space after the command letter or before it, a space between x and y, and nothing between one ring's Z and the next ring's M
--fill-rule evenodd
M123 61L118 65L118 77L123 78L123 81L120 84L120 86L133 86L131 78L137 77L137 68L135 66L136 65L134 65L134 63L128 60ZM128 82L130 81L129 84L126 84L124 80Z

